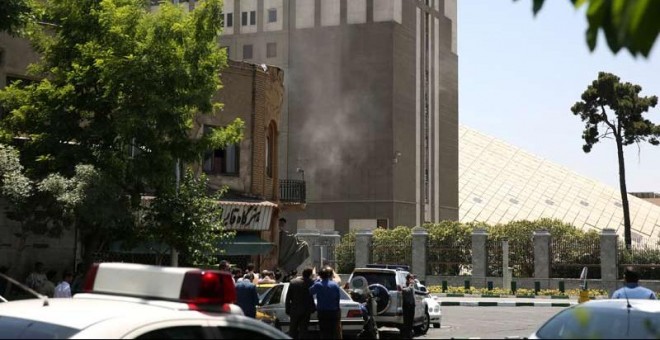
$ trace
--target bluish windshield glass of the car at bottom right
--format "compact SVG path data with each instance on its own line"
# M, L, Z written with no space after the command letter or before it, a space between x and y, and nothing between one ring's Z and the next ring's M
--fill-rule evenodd
M536 335L541 339L657 339L660 314L578 306L557 314Z

